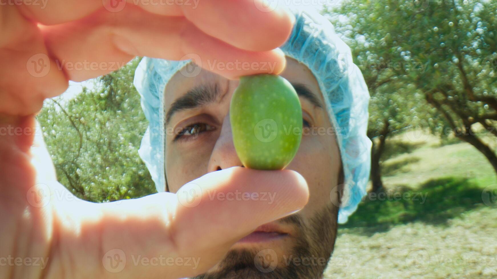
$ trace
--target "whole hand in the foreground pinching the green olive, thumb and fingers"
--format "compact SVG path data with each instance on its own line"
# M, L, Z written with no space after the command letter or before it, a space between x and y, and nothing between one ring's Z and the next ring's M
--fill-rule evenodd
M208 60L238 59L276 62L274 73L284 67L283 54L271 50L290 33L292 20L284 12L261 12L249 0L205 1L195 10L130 3L118 12L109 11L105 8L108 3L102 6L101 1L50 1L44 9L0 7L2 22L9 24L0 25L0 251L4 253L0 257L48 260L44 269L7 264L1 267L0 277L192 276L215 265L233 243L258 225L307 202L305 180L290 170L235 167L209 173L193 181L202 190L194 199L200 199L195 207L178 202L180 197L171 193L92 204L76 199L56 181L41 132L34 128L33 114L45 98L64 92L68 80L105 74L134 56L180 59L194 53L204 66L209 65ZM107 66L68 67L68 62L84 61ZM112 62L116 68L110 67ZM36 66L43 66L41 72L35 71ZM230 78L264 72L213 71ZM272 191L275 200L271 204L212 200L209 189ZM104 263L105 256L116 255L113 249L122 251L128 261L119 273L109 271ZM145 267L134 264L131 256L200 261L195 269L186 265Z

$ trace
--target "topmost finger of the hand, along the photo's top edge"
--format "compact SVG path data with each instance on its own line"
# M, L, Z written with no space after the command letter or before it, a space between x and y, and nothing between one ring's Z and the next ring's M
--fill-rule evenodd
M44 25L81 19L99 9L116 17L126 5L167 16L181 16L204 33L248 51L269 51L290 35L294 16L283 5L263 0L50 0L44 5L22 5L24 16Z

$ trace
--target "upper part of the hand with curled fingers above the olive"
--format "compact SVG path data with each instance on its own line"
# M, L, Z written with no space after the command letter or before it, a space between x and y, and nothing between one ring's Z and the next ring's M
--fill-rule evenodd
M274 49L287 39L294 19L282 10L264 11L261 0L197 6L186 0L109 1L0 6L1 114L36 113L44 99L67 89L68 80L106 74L134 56L196 57L204 67L214 61L269 62L276 63L275 74L285 66L283 53ZM269 69L210 70L236 78Z

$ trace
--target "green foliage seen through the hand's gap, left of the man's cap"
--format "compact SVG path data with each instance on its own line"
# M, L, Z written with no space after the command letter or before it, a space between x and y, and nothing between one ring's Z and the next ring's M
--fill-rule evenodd
M47 100L38 114L59 181L92 202L114 201L155 192L138 156L148 122L133 86L136 58L98 78L74 99Z

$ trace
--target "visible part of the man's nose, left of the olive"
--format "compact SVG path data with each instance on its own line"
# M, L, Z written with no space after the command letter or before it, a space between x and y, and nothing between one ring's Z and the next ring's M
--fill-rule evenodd
M208 165L208 171L216 171L228 167L243 167L242 162L238 158L233 144L233 135L231 131L230 114L226 115L221 127L221 133L214 145L211 159Z

